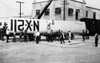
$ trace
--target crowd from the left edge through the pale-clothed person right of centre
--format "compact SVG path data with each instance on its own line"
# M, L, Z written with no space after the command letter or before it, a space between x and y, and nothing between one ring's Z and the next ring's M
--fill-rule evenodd
M0 29L0 40L4 40L4 36L6 36L6 42L9 43L10 35L9 35L9 29L7 29L7 28L8 28L7 25L4 24L3 28ZM36 43L39 44L39 40L40 40L39 31L36 32L34 35L36 37L36 39L35 39ZM70 31L68 32L68 36L69 36L68 39L69 39L69 42L70 42L70 40L71 40ZM16 33L13 33L12 37L13 37L12 41L16 42ZM61 31L61 30L58 30L58 32L55 33L55 34L53 33L53 30L51 30L50 33L47 34L47 41L53 42L53 40L55 40L56 37L58 37L58 40L61 41L61 44L65 43L65 41L64 41L65 35L64 35L63 31ZM30 39L30 35L27 35L27 30L25 30L25 31L21 30L21 32L19 34L20 42L27 42L28 38ZM34 38L34 36L32 36L31 38Z

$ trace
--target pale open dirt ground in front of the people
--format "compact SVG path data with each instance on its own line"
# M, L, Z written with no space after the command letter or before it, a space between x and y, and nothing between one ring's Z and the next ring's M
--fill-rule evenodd
M94 36L86 41L81 36L71 43L65 40L65 44L0 41L0 63L100 63L100 44L94 46Z

